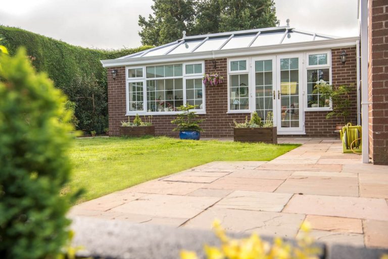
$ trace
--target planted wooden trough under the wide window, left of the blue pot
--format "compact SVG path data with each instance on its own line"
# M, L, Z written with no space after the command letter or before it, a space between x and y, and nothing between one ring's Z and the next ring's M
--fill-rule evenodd
M155 136L155 126L152 125L152 116L149 116L148 120L146 117L144 117L144 120L145 122L143 122L139 115L136 114L133 122L130 122L129 118L127 122L122 121L120 127L120 136Z

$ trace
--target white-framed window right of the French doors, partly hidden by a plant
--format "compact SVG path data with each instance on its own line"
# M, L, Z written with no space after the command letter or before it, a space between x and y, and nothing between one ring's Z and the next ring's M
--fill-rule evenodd
M331 51L306 53L306 111L328 111L332 109L331 101L319 93L319 84L331 84ZM317 93L313 93L318 89Z

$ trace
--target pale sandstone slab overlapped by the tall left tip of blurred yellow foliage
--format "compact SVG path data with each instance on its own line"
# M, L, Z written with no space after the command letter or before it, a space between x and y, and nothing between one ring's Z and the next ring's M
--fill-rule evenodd
M305 215L210 208L183 227L210 230L215 219L226 231L295 237Z

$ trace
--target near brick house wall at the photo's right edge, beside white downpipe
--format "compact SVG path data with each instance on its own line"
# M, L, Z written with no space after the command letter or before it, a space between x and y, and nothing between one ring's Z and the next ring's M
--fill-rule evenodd
M388 165L388 1L368 5L369 153L373 164Z

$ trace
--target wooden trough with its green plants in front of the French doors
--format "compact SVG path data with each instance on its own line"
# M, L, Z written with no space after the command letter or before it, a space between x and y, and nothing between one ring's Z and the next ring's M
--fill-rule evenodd
M277 130L276 127L273 127L272 120L272 112L267 113L265 124L262 123L259 115L253 112L250 121L248 121L248 116L245 118L245 122L234 121L234 141L277 144Z

